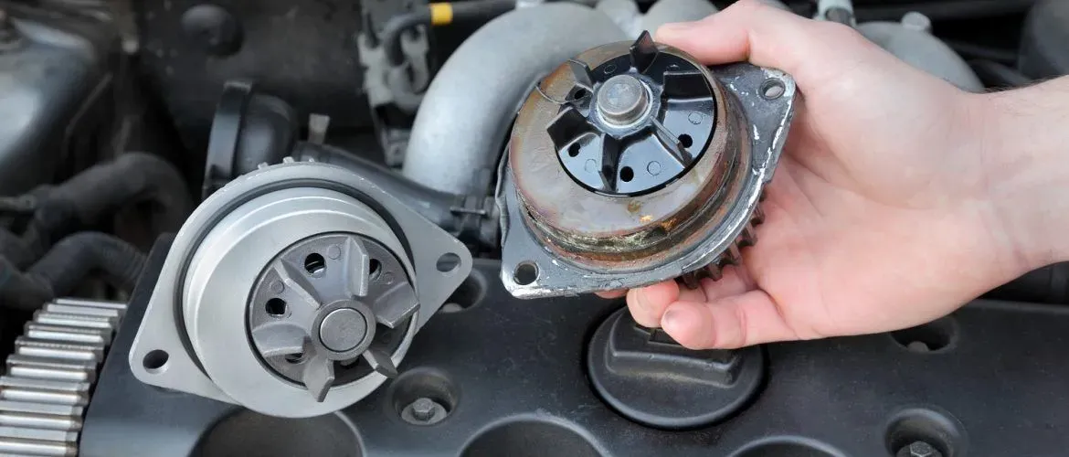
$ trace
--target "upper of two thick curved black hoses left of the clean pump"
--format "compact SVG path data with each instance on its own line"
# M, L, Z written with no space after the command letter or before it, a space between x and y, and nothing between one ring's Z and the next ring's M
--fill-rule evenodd
M142 201L153 203L156 231L177 230L192 207L185 180L174 166L155 155L123 154L50 188L27 225L22 240L34 255L41 255L55 240Z

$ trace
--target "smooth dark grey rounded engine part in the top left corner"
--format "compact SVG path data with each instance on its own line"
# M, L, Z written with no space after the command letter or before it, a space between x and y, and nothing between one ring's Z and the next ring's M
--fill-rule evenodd
M79 112L110 80L107 39L81 22L0 4L0 195L55 179L74 126L92 121Z

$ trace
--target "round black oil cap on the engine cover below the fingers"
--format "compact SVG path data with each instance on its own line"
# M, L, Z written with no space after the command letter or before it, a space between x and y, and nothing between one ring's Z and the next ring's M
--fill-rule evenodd
M764 352L760 347L686 349L621 309L594 332L587 370L602 399L629 420L692 429L713 425L747 403L764 376Z

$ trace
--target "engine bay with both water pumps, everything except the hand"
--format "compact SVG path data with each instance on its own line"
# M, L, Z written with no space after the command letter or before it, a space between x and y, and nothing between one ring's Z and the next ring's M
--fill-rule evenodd
M1069 74L1059 0L762 1ZM1067 264L734 350L594 295L760 243L804 93L652 35L730 3L0 2L0 454L1064 454Z

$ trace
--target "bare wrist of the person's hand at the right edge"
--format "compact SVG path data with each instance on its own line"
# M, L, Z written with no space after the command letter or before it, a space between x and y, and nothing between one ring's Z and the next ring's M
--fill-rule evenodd
M998 257L1022 274L1069 260L1069 78L972 96Z

